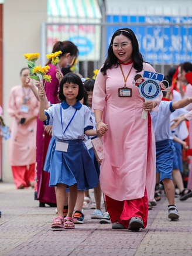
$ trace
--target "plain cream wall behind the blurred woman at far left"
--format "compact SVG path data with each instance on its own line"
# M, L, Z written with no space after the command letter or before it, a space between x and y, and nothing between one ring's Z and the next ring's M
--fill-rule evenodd
M27 66L23 54L40 53L40 26L46 22L47 1L5 0L3 13L4 117L6 123L11 125L11 118L6 111L9 92L11 87L20 84L20 70ZM8 162L8 141L3 140L2 143L2 179L4 182L13 182Z

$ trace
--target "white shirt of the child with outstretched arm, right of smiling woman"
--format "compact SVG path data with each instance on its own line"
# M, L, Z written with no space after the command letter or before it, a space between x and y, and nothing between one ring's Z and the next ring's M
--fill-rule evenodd
M150 112L156 142L164 141L165 139L172 139L172 132L170 128L170 115L174 112L172 104L173 101L161 101L159 111Z

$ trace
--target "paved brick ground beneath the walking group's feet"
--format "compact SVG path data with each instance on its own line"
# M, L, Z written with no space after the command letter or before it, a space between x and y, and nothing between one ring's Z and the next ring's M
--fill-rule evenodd
M192 198L176 198L180 220L170 221L163 195L140 232L112 230L111 224L91 220L91 209L84 210L84 224L59 231L50 228L55 209L39 207L33 194L31 188L0 183L0 255L192 255Z

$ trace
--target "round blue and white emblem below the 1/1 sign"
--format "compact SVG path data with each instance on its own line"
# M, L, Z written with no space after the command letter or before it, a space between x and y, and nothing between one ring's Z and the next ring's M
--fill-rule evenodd
M139 93L145 100L154 100L160 94L160 86L155 80L145 80L139 88Z

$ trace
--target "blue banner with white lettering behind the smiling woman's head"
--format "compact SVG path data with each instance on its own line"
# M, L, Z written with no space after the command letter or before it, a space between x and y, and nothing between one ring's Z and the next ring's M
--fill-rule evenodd
M109 15L107 22L107 49L113 33L127 27L110 23L129 23L146 62L175 65L192 62L192 17Z

